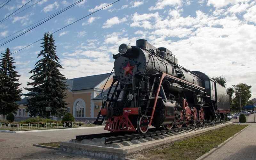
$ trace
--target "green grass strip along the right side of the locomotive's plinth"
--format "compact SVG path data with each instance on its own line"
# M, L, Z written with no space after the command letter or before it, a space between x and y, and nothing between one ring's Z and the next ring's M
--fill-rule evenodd
M204 134L193 136L184 140L178 140L159 148L143 150L132 155L130 158L137 157L141 160L148 159L196 159L206 152L218 146L232 135L242 130L248 125L230 125L205 132Z

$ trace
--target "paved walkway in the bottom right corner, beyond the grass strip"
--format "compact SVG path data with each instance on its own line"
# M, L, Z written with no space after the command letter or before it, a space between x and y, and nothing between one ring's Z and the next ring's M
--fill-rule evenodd
M256 159L256 123L227 142L208 156L207 160L255 160Z

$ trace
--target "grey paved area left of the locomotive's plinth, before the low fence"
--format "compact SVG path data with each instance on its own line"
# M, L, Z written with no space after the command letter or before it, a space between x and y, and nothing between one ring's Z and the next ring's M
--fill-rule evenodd
M76 135L106 133L104 127L84 128L75 130L61 130L49 132L30 132L30 133L7 133L0 132L0 159L84 159L91 157L77 156L53 149L44 149L35 147L33 144L43 142L68 141L75 138Z

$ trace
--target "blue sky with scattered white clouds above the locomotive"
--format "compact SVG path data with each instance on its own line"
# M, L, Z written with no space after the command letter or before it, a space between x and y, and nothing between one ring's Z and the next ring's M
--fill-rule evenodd
M0 0L0 4L4 1ZM38 1L11 0L0 9L0 21L27 2L19 11ZM0 44L17 35L17 31L76 1L41 0L0 22ZM9 47L14 53L43 38L45 32L53 33L113 2L84 0L4 44L0 52ZM16 34L7 37L13 33ZM118 53L120 44L135 46L136 40L146 39L155 47L171 50L178 63L189 70L211 77L223 75L227 87L238 83L252 85L251 98L256 98L256 1L253 0L120 0L54 33L53 37L64 67L61 73L68 79L111 72L112 54ZM22 88L30 82L28 71L42 58L37 58L41 42L12 55ZM23 93L28 91L23 89Z

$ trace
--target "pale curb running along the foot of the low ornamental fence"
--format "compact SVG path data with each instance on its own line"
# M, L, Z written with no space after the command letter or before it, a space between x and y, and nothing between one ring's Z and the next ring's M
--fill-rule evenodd
M60 128L60 129L41 129L41 130L31 130L31 131L10 131L10 130L1 130L0 132L9 132L9 133L27 133L27 132L45 132L45 131L63 131L63 130L74 130L74 129L91 129L91 128L101 128L105 126L95 126L95 127L76 127L76 128Z

